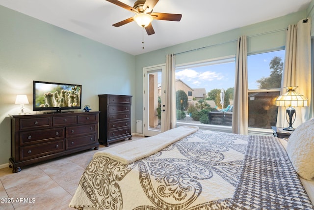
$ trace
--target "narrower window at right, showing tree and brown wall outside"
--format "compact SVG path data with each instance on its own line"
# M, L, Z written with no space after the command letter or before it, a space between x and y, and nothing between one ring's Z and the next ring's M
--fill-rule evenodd
M285 50L248 56L249 127L276 126L284 58Z

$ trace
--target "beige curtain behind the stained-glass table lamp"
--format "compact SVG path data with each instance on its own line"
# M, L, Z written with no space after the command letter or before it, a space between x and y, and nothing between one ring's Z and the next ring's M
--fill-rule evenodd
M312 70L311 70L311 19L304 19L288 26L286 38L286 55L280 94L286 93L285 87L299 86L295 91L307 97L308 107L295 107L296 128L313 117L312 101ZM278 107L277 126L288 127L286 107Z

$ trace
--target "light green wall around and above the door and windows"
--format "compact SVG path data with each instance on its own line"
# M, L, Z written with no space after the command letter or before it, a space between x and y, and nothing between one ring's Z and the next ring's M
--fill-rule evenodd
M135 119L143 119L143 94L141 93L143 92L144 67L165 63L165 56L170 53L177 54L176 64L235 55L236 40L241 35L246 35L248 37L248 54L284 48L286 40L285 29L288 28L288 25L296 24L299 20L305 17L306 11L301 11L262 23L222 32L135 56L135 90L137 92L135 95ZM268 33L270 31L277 32ZM210 47L203 48L206 46ZM180 54L181 52L199 48L203 49Z

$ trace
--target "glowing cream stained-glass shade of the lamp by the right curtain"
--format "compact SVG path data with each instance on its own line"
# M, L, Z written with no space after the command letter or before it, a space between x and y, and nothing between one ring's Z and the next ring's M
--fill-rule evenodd
M297 87L286 87L287 92L280 95L276 99L276 106L288 106L288 107L298 107L298 106L308 106L308 99L304 95L295 91Z

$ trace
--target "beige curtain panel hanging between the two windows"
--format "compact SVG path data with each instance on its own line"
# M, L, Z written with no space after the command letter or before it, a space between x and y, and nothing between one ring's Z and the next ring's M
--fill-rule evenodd
M235 93L232 132L248 134L248 80L246 36L239 37L235 57Z

